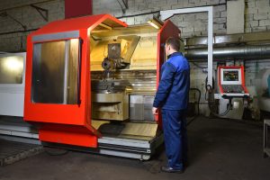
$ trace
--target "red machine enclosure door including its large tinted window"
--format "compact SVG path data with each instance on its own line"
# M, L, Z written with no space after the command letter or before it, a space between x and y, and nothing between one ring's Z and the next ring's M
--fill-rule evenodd
M49 23L27 38L24 121L41 141L97 147L91 126L90 31L125 23L108 14Z

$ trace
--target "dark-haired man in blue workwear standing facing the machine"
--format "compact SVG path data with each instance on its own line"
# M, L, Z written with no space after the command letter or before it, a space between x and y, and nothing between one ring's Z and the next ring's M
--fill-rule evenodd
M183 173L187 160L187 137L185 110L190 86L190 67L180 49L180 41L170 37L166 40L167 60L161 67L161 78L152 112L161 109L165 138L167 166L161 170L168 173Z

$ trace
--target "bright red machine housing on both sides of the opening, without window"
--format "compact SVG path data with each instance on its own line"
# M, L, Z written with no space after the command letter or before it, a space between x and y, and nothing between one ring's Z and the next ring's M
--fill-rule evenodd
M24 121L39 128L40 141L97 148L98 130L91 126L91 76L90 76L90 33L100 23L112 28L127 27L109 14L91 15L49 23L27 38L26 80L24 99ZM31 101L31 81L33 67L33 47L35 43L54 40L66 40L59 36L62 32L77 31L77 39L83 40L81 47L80 101L79 104L33 103ZM159 70L165 60L164 44L169 36L179 37L175 24L166 21L157 33L157 85ZM36 37L47 37L40 39ZM51 40L48 37L54 37ZM157 115L161 124L161 115Z

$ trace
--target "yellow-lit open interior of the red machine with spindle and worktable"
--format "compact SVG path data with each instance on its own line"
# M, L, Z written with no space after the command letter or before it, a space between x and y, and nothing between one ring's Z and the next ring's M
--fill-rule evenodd
M153 139L157 30L97 26L90 35L92 126L105 136Z

